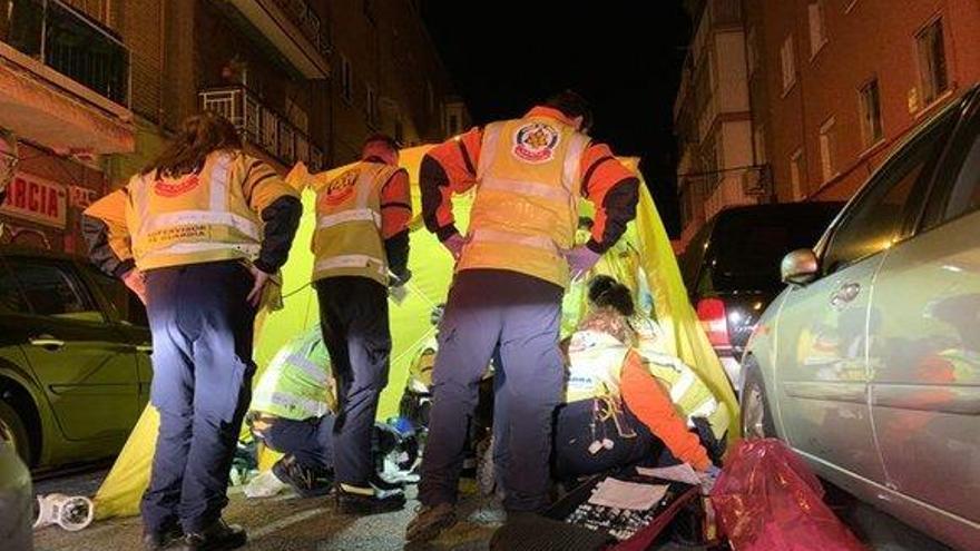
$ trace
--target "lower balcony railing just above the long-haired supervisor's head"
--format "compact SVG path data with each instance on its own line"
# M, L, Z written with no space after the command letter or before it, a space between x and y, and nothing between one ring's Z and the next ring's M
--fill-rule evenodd
M212 88L199 94L200 108L235 125L242 137L285 166L302 160L311 173L323 169L323 150L288 119L263 105L243 87Z

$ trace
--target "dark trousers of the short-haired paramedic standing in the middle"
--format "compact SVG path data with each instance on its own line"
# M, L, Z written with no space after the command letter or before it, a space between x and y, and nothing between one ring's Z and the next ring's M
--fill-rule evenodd
M336 481L369 488L374 473L371 434L391 357L388 288L366 277L347 276L320 279L314 287L323 343L337 382Z

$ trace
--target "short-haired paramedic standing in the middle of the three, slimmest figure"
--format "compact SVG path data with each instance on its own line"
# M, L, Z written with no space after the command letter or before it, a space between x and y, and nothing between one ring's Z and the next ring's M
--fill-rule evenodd
M361 163L332 180L314 180L313 286L337 382L334 469L345 513L382 513L405 502L402 493L372 483L371 455L378 400L390 367L389 286L411 277L412 204L409 175L398 159L395 141L375 135L364 142Z

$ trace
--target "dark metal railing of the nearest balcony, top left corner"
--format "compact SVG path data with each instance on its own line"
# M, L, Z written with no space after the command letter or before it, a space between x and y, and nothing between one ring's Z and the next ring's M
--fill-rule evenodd
M129 106L129 49L61 0L0 2L0 41L120 106Z

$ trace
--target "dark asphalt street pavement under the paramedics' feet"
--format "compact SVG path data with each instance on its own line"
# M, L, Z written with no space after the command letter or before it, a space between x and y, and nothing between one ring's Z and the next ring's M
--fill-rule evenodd
M106 471L49 478L36 483L36 492L91 495ZM471 485L471 484L470 484ZM438 540L405 547L404 529L418 502L414 486L409 489L409 504L403 511L367 518L337 514L330 498L302 500L292 494L247 500L239 489L232 489L225 518L248 530L248 550L259 551L478 551L489 549L490 538L500 525L502 511L489 500L464 488L464 519ZM836 503L835 510L869 548L875 551L952 551L891 516L860 503ZM37 551L111 551L140 549L141 525L138 518L97 522L81 532L66 532L58 527L39 530ZM0 545L2 548L2 545ZM679 548L665 543L658 551ZM695 550L696 551L696 550Z

